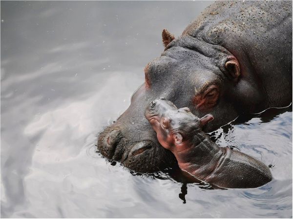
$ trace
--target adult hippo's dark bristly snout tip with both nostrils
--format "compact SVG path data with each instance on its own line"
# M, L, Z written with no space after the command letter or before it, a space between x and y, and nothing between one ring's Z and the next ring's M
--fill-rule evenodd
M134 131L136 135L130 137ZM137 172L154 172L176 164L174 156L159 145L152 129L133 130L115 123L100 133L98 150L105 158ZM163 159L166 163L162 163Z

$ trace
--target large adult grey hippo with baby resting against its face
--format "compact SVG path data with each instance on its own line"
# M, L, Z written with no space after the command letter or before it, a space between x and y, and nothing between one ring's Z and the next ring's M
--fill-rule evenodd
M182 36L163 31L165 51L147 64L146 82L131 105L98 139L109 159L138 172L176 165L144 116L164 96L198 117L214 115L204 131L241 113L292 101L292 1L216 1Z

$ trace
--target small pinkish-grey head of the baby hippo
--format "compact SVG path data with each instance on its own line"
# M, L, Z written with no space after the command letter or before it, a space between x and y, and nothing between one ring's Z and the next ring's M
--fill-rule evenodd
M150 102L145 116L157 133L161 146L172 153L183 148L182 146L192 145L196 132L201 132L202 128L213 120L211 114L200 119L193 115L187 107L178 109L163 97Z

